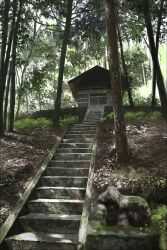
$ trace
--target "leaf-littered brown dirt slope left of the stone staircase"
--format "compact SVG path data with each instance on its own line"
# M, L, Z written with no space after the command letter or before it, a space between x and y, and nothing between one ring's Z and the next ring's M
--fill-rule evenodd
M40 128L0 139L0 226L61 135L61 128Z

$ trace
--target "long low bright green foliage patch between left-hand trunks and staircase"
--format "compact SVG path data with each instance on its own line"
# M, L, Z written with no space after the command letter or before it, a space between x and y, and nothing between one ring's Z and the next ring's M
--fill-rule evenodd
M15 129L17 131L27 131L50 126L53 126L53 122L43 117L38 119L25 118L15 122Z

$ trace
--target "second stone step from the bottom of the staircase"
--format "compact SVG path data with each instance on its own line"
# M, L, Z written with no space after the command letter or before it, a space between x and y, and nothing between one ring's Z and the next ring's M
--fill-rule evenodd
M32 213L19 218L25 232L75 234L81 215Z

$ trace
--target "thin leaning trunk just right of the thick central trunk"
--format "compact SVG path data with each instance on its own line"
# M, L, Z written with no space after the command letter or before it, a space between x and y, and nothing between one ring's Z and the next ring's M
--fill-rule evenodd
M119 25L117 26L117 30L118 30L118 39L119 39L120 49L121 49L122 67L123 67L123 71L124 71L124 75L125 75L125 79L126 79L126 84L127 84L127 92L128 92L128 97L129 97L129 104L130 104L130 107L133 108L134 103L133 103L133 97L132 97L132 89L131 89L131 86L130 86L129 74L128 74L126 63L125 63L124 49L123 49L123 43L122 43L122 38L121 38Z

